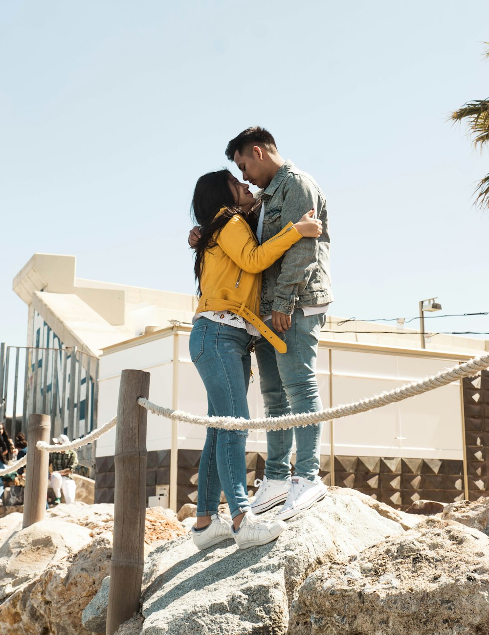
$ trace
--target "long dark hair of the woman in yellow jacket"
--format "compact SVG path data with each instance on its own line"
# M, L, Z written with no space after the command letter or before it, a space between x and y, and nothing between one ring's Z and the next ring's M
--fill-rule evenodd
M216 246L219 232L235 214L240 214L246 220L245 214L236 205L230 178L232 178L232 174L229 170L209 172L200 177L195 186L192 211L200 226L201 233L195 246L194 264L198 297L202 295L200 280L204 253ZM226 210L222 214L218 214L218 211L223 207Z

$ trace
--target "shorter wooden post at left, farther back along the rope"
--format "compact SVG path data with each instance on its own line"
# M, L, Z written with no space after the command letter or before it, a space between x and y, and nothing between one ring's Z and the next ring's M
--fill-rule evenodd
M22 528L29 527L44 519L48 498L50 454L36 448L37 441L49 443L51 417L30 415L27 439L27 464L25 465L25 490L23 493Z

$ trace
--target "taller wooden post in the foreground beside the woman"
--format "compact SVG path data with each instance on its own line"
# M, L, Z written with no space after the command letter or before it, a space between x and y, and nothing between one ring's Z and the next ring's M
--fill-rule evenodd
M147 410L137 399L149 397L150 374L123 370L116 426L114 545L105 635L139 611L144 568L146 519Z

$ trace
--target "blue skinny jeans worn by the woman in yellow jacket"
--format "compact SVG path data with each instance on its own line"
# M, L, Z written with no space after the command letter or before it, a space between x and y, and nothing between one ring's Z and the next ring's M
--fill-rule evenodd
M207 391L208 415L250 418L246 392L255 340L245 329L199 318L189 349ZM197 516L217 514L221 491L234 518L250 509L246 489L248 430L207 429L199 463Z

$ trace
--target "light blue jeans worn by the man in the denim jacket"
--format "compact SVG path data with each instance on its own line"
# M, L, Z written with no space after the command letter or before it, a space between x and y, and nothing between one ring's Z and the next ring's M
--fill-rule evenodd
M296 309L290 329L285 333L274 331L287 344L287 352L283 354L277 352L264 338L258 340L255 354L267 417L323 410L316 380L316 358L319 332L325 321L325 313L304 316L301 309ZM271 322L267 326L272 328ZM265 462L267 478L283 481L290 476L295 435L297 458L294 474L314 480L319 472L322 431L322 423L268 431Z

